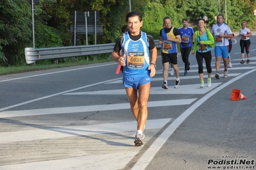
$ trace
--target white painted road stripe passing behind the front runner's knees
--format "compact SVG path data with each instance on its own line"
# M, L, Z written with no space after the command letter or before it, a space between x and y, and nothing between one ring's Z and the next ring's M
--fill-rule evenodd
M155 102L148 102L148 107L162 107L170 105L187 105L191 104L197 98L181 99L181 100L162 100ZM76 107L60 107L47 109L31 109L23 111L3 111L0 112L0 118L12 118L18 116L36 116L44 114L64 114L71 112L93 112L93 111L113 111L119 109L130 109L130 104L107 104L107 105L88 105Z

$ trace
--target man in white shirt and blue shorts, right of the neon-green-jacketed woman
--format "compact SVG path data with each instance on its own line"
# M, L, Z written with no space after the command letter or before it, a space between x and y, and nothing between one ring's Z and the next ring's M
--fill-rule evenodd
M221 56L223 58L223 63L224 63L224 76L223 77L228 77L228 38L232 38L233 34L224 22L224 17L223 15L219 14L217 16L217 24L212 26L211 33L214 36L215 39L215 47L214 47L214 52L215 52L215 57L216 57L216 74L215 77L216 79L219 79L219 69L221 67Z

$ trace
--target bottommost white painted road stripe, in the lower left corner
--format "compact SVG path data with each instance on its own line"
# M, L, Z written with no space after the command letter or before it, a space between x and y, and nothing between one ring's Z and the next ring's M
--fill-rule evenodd
M0 166L3 170L67 170L67 169L80 169L80 170L113 170L123 169L130 161L128 158L133 158L138 151L123 151L120 153L110 153L105 155L86 155L83 157L65 158L59 160L47 160L40 162L31 162L26 164L15 164L8 166Z

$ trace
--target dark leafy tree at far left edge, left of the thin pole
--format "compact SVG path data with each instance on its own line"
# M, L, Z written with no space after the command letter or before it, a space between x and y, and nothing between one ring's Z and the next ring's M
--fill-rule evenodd
M24 61L24 47L30 43L30 14L26 0L0 1L0 65Z

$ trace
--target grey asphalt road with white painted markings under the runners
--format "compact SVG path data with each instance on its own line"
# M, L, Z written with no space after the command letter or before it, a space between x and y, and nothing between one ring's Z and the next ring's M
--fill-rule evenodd
M1 75L0 169L255 169L256 36L250 64L237 40L226 79L223 64L214 78L212 50L211 88L199 88L193 55L186 77L179 58L180 87L169 76L162 89L158 56L141 147L117 63Z

